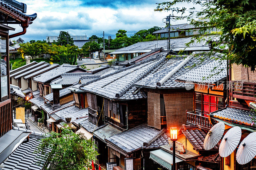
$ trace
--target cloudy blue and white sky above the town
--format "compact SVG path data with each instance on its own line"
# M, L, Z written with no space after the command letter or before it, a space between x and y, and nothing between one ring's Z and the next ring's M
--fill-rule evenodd
M141 29L164 27L162 19L169 13L155 12L156 3L163 0L20 0L27 4L27 14L37 13L25 35L25 41L43 40L47 35L59 35L68 31L71 35L111 35L124 29L133 35ZM184 23L176 21L172 24ZM15 25L19 31L22 28ZM11 33L10 33L11 34ZM14 39L18 39L14 38Z

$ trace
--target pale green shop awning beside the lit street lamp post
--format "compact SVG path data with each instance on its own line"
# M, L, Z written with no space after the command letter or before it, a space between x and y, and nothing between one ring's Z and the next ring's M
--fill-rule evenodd
M162 165L163 167L167 168L167 169L172 169L172 154L168 153L162 149L158 149L156 151L151 151L150 152L150 157L151 159L153 159L156 163ZM175 158L175 162L181 162L183 161L180 158Z

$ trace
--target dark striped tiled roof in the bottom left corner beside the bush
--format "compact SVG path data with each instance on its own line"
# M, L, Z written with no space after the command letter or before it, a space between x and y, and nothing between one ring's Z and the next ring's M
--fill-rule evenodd
M39 160L37 156L40 154L37 153L37 147L40 144L40 140L45 136L41 135L42 133L38 133L35 131L21 129L15 127L14 130L21 130L26 132L31 132L29 135L29 141L27 143L22 143L20 146L12 152L12 154L8 157L6 161L4 161L2 165L2 170L10 170L10 169L22 169L22 170L40 170L42 169L42 165L38 164ZM47 150L46 152L49 152Z

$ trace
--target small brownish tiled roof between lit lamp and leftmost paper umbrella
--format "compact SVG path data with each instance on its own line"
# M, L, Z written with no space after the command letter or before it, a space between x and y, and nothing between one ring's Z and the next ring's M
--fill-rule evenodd
M204 138L206 133L202 129L199 129L198 126L186 125L186 129L181 129L181 132L195 150L204 150ZM218 146L214 146L213 149L218 149Z

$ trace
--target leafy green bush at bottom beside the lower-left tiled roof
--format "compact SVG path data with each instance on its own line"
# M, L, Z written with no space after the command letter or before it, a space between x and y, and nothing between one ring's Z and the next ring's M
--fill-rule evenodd
M37 151L40 153L38 159L42 159L40 164L47 170L87 170L88 167L91 168L92 160L98 155L95 147L82 133L76 134L70 129L62 128L61 135L52 132L50 137L41 140ZM50 153L45 152L48 148L51 148ZM41 154L46 156L42 157Z

